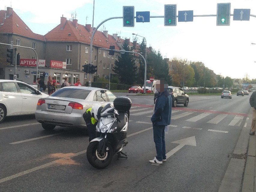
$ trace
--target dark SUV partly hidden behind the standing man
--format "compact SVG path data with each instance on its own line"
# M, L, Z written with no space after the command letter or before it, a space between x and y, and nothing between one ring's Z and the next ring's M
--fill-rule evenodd
M176 107L177 104L184 104L187 107L189 101L188 95L180 87L168 86L168 92L172 96L172 107ZM154 103L158 94L158 91L154 94Z

